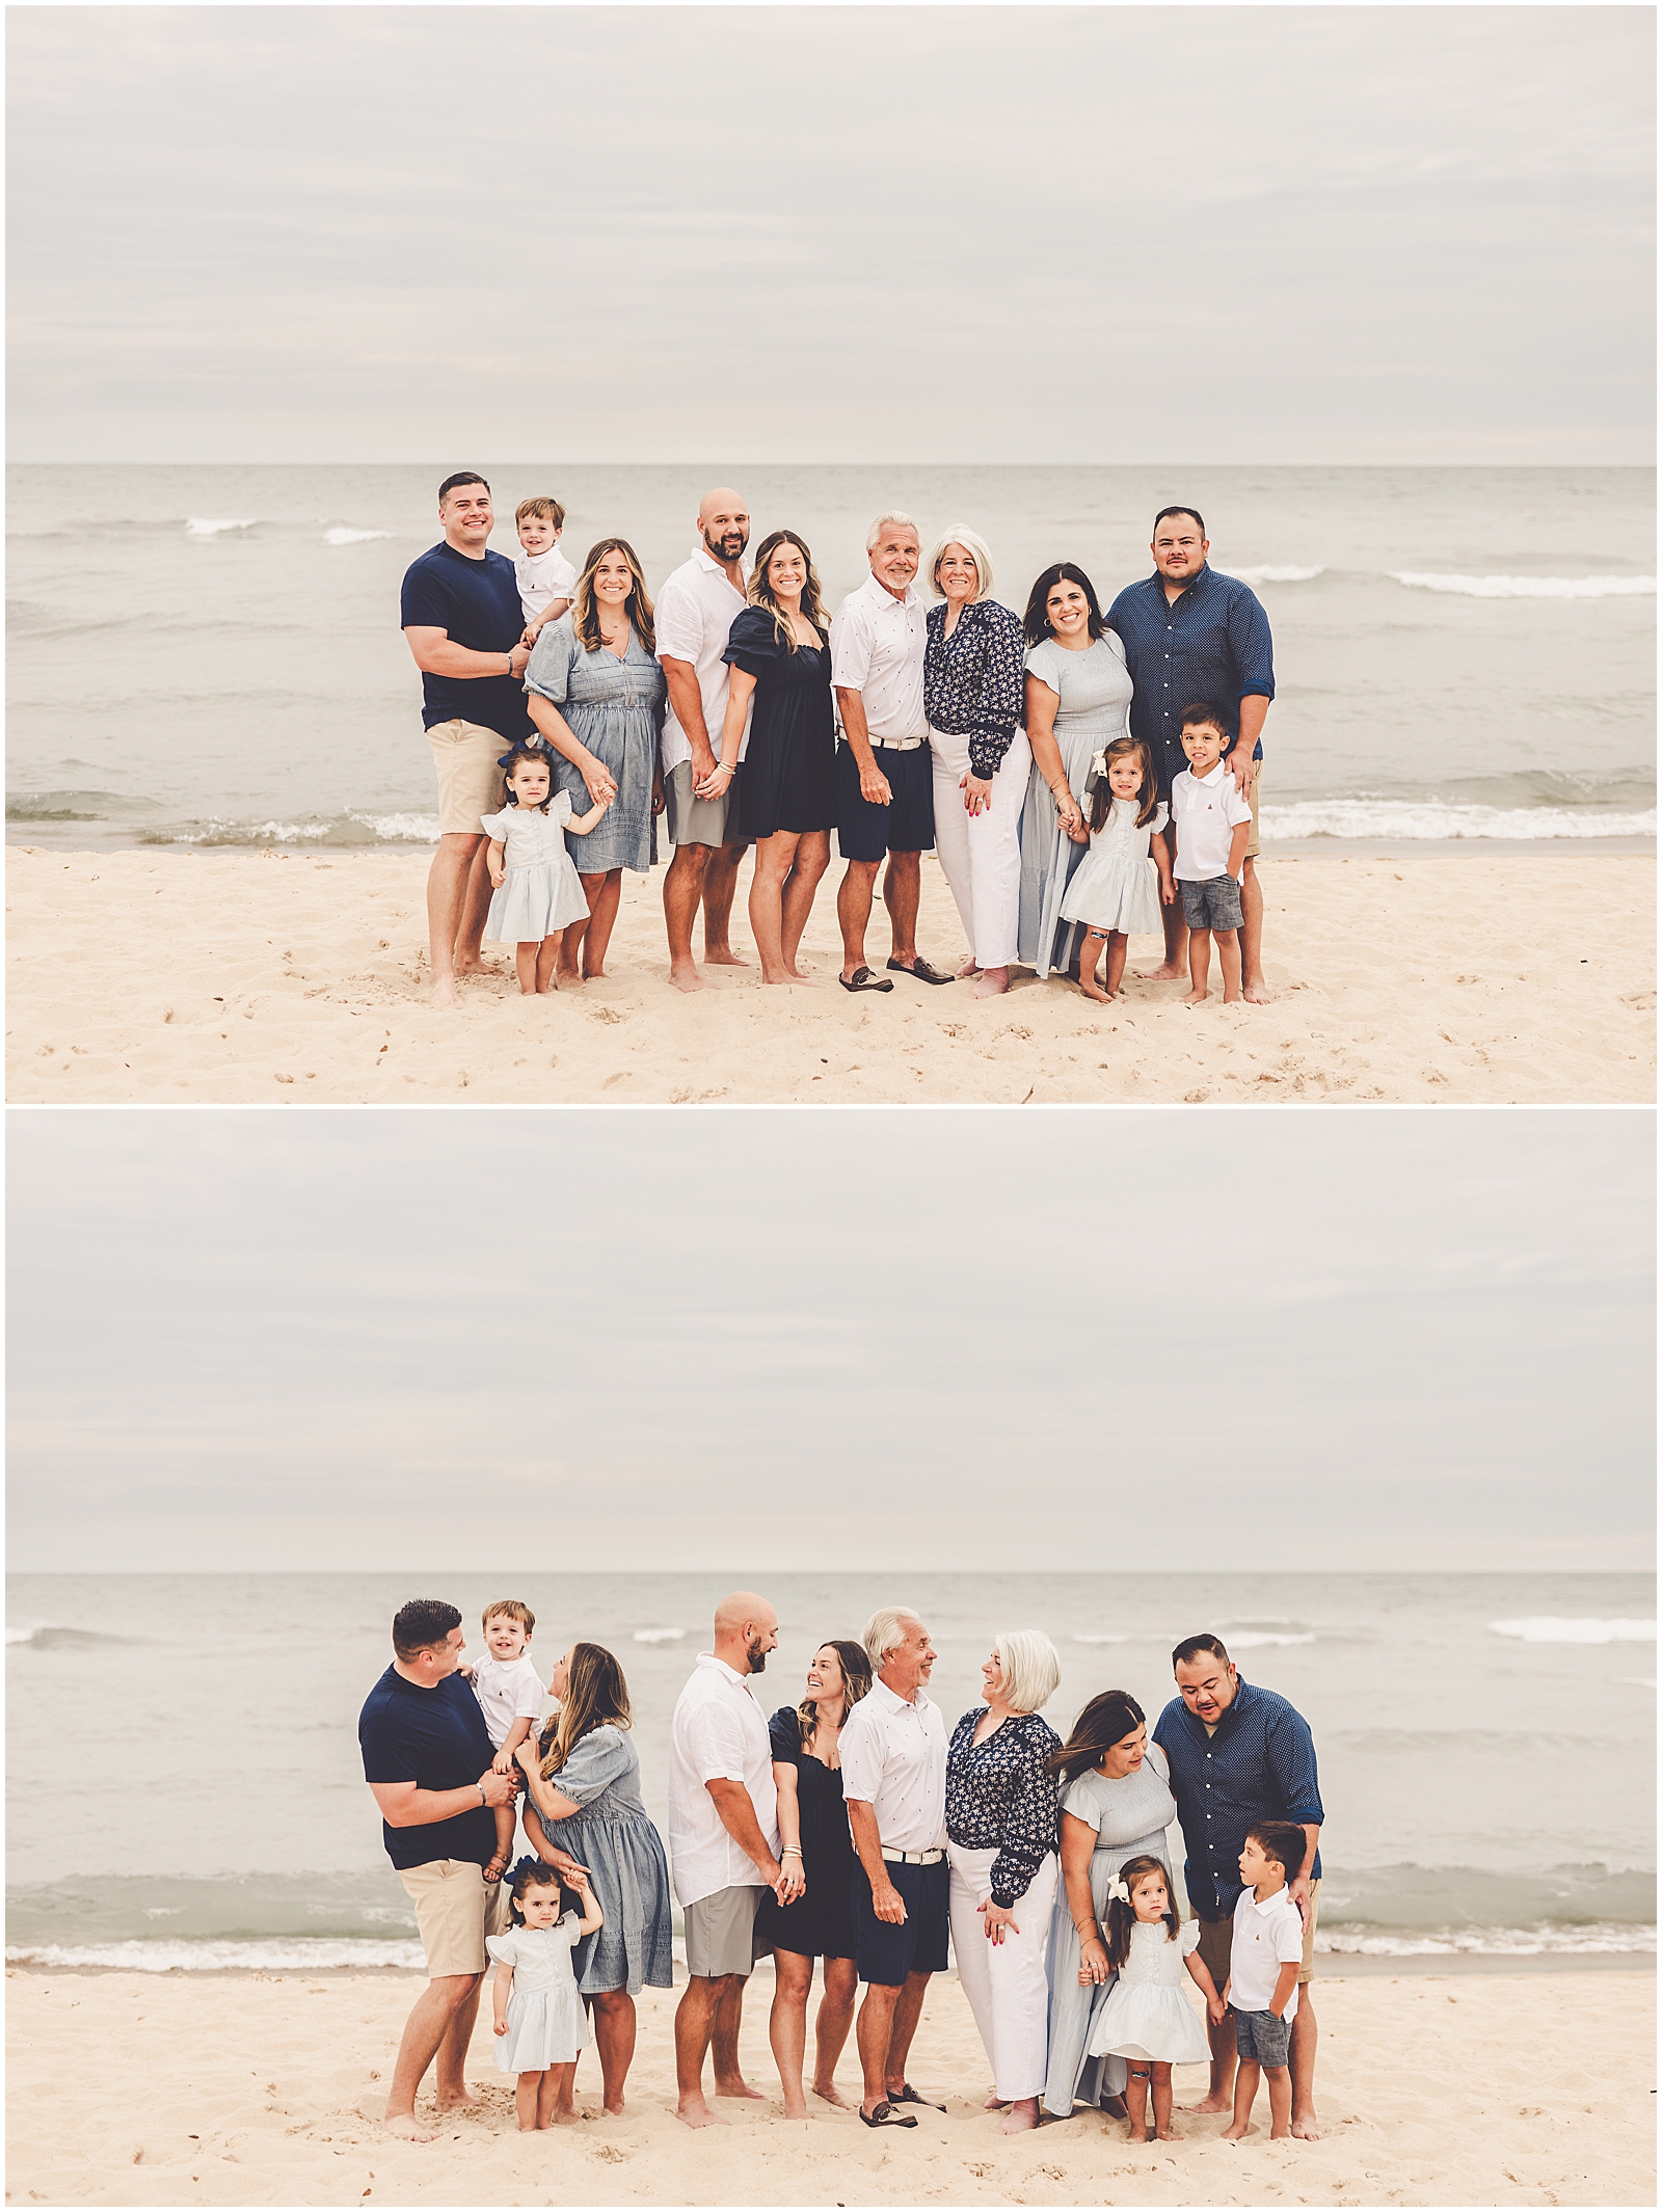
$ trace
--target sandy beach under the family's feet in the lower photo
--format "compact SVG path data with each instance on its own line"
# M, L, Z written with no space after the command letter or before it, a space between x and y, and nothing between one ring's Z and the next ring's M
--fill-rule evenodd
M978 2110L987 2062L954 1978L929 1995L912 2079L945 2115L868 2132L781 2115L768 1973L746 2006L746 2073L770 2095L690 2135L673 2115L668 1991L642 2000L620 2119L518 2135L491 2062L436 2143L381 2135L383 2077L416 1980L403 1973L7 1973L9 2203L122 2205L1644 2205L1655 2201L1655 1978L1357 1975L1319 1982L1319 2143L1233 2146L1177 2115L1131 2146L1076 2115L1007 2139ZM113 2057L104 2057L111 2053ZM839 2073L856 2095L859 2068ZM1204 2084L1177 2070L1177 2101ZM593 2055L578 2104L598 2115ZM432 2117L423 2101L420 2117Z

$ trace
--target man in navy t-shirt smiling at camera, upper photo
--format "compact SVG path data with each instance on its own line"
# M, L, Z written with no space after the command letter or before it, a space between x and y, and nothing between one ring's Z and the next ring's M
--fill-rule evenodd
M520 677L524 613L513 562L489 551L491 487L463 469L438 487L443 544L405 568L398 622L420 668L420 719L438 770L438 854L427 874L434 1002L456 1006L456 975L485 967L491 902L482 814L502 803L496 765L516 737L536 737Z

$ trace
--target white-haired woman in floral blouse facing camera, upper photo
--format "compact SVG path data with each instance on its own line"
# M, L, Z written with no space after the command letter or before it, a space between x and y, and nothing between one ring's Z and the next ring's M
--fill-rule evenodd
M934 849L958 905L976 998L1009 989L1020 916L1022 801L1033 754L1022 730L1027 639L994 599L983 538L947 531L925 568L941 604L929 608L923 710L934 759Z

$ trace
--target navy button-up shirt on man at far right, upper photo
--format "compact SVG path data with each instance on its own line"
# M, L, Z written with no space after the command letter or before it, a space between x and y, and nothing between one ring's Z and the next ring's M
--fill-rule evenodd
M1166 606L1166 580L1155 571L1126 584L1109 608L1109 628L1131 670L1131 734L1151 748L1162 792L1188 768L1186 706L1206 699L1228 721L1228 734L1239 737L1242 699L1275 699L1270 617L1257 593L1233 575L1206 566ZM1261 741L1253 759L1264 759Z

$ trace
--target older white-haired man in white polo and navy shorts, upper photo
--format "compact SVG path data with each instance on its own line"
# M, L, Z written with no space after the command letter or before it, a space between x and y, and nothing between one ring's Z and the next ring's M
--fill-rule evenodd
M865 533L872 573L832 615L832 684L843 721L837 748L837 891L845 991L892 991L865 964L872 889L887 854L883 905L890 967L918 982L952 982L918 956L923 854L934 852L934 763L923 714L923 599L912 588L923 540L912 515L879 515Z

